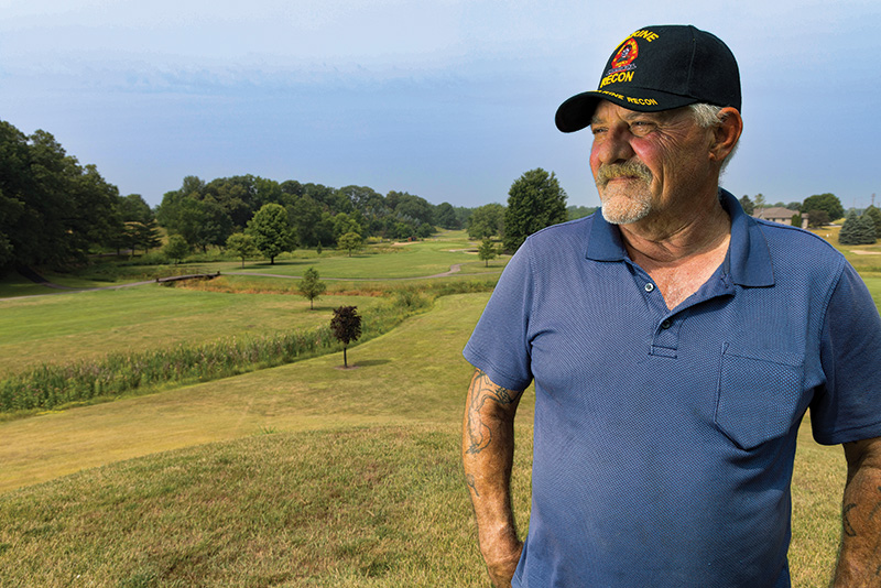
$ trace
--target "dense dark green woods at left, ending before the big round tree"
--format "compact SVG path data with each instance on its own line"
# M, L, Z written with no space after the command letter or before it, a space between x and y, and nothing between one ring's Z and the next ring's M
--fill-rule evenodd
M28 135L0 121L0 271L69 266L108 250L149 251L161 244L160 226L178 249L226 247L232 235L249 232L268 204L284 209L286 248L336 247L346 235L424 238L436 227L463 228L470 214L406 192L383 196L366 186L253 175L210 182L187 176L151 209L138 194L121 196L95 165L80 165L51 133Z

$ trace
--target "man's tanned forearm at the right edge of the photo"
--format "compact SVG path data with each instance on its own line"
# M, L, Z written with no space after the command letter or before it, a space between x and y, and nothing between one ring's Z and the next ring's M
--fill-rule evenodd
M881 437L845 444L847 486L833 588L881 587Z

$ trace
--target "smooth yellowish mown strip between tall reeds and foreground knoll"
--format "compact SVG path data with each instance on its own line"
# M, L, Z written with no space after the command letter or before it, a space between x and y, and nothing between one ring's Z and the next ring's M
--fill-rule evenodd
M435 311L348 351L159 394L0 423L0 491L84 467L271 429L460 417L471 368L461 357L488 294Z

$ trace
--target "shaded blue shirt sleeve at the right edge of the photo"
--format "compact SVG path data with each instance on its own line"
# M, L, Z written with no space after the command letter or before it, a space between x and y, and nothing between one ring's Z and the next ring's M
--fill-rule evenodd
M829 298L820 361L826 384L811 405L817 443L881 436L881 316L850 264Z

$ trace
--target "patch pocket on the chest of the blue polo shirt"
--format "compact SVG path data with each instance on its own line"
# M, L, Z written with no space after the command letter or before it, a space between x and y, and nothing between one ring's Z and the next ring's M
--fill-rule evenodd
M722 349L716 426L741 449L785 435L801 420L804 360L775 350Z

